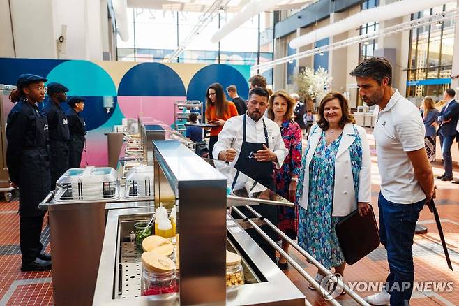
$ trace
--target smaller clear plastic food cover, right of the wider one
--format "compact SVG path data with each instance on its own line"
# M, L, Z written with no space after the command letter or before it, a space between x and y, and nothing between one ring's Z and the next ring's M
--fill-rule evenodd
M153 166L135 166L126 174L125 196L151 198L154 192Z

